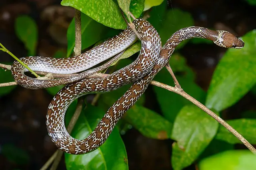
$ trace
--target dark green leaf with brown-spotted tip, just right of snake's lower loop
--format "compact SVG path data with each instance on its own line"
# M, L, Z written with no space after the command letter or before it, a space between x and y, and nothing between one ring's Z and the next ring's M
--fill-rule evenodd
M132 106L125 114L124 119L145 137L154 139L170 138L172 123L146 107Z

